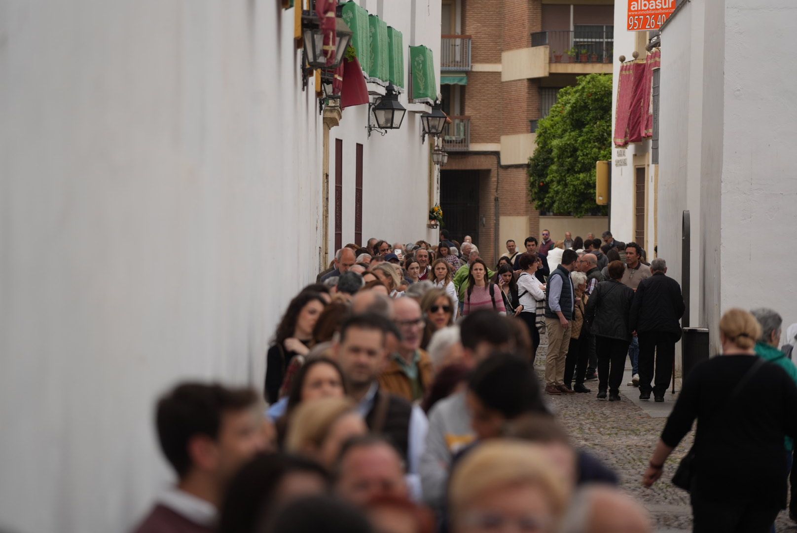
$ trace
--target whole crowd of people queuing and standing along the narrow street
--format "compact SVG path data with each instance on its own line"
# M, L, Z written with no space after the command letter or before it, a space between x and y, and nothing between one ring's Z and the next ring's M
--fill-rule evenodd
M602 238L568 233L557 243L542 231L525 251L508 241L494 267L472 239L445 232L435 246L369 239L336 251L289 302L262 394L184 383L159 400L156 428L178 483L136 533L652 531L644 507L573 444L546 398L591 393L596 380L599 400L619 401L626 356L642 400L663 401L672 378L680 286L664 259L648 263L638 244ZM720 322L724 351L739 355L721 359L740 362L709 361L689 375L643 478L658 480L695 418L714 419L721 431L701 421L690 452L701 463L689 478L696 531L764 531L785 505L797 367L775 353L780 324L768 310L758 320L744 313ZM764 337L759 322L773 325ZM544 383L534 368L541 335ZM759 338L759 359L775 364L742 379L755 358L741 355L756 353ZM746 406L736 413L743 425L720 424L717 398L747 381L731 393ZM702 477L736 454L758 456L741 479L773 483L744 492L748 507L714 499L732 487L732 470ZM720 513L728 527L712 529Z

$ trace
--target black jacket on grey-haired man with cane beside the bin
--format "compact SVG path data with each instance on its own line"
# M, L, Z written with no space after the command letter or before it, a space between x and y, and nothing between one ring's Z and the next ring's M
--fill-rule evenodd
M673 278L656 272L639 282L631 304L631 331L664 331L681 338L684 297Z

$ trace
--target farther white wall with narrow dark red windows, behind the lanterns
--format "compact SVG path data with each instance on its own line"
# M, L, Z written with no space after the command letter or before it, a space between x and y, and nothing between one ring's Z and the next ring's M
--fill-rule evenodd
M413 0L379 2L368 0L363 4L369 13L378 14L388 26L402 32L404 44L405 89L409 87L409 46L426 45L433 50L438 92L440 90L440 2L415 6ZM413 14L415 15L413 18ZM413 41L414 36L414 41ZM373 85L371 85L373 87ZM371 97L375 101L375 97ZM371 237L386 239L390 243L415 242L426 239L437 242L438 230L426 228L429 214L430 140L421 144L420 114L426 105L409 104L406 90L399 97L401 104L410 109L404 116L401 128L367 135L367 105L344 109L340 125L332 128L330 138L330 211L335 212L335 140L344 145L344 208L343 244L355 242L355 145L363 144L363 243ZM434 167L434 165L433 165ZM435 170L436 172L436 170ZM439 198L439 197L438 197ZM335 247L334 216L330 219L329 250Z

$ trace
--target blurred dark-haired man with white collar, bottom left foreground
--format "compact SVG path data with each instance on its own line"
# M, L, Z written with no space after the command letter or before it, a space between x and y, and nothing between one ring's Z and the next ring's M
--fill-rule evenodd
M155 425L163 455L177 472L135 533L208 533L230 479L265 451L257 393L184 383L158 402Z

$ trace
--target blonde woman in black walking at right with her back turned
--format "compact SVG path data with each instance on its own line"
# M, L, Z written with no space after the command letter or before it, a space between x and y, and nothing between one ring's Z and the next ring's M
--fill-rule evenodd
M685 377L650 465L646 487L697 419L692 450L673 483L691 492L694 530L769 531L786 507L786 436L797 436L797 385L778 365L756 357L761 327L741 309L720 319L722 356Z

